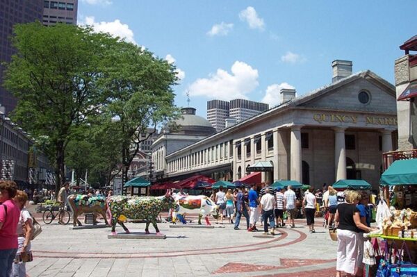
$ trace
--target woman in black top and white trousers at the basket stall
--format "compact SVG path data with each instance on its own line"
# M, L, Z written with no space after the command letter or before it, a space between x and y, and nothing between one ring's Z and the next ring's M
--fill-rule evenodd
M336 277L341 277L344 271L347 277L355 276L358 267L357 255L359 246L359 232L363 230L369 233L372 228L361 223L357 203L361 200L361 194L354 190L345 192L345 202L337 206L336 226L337 230L337 262Z

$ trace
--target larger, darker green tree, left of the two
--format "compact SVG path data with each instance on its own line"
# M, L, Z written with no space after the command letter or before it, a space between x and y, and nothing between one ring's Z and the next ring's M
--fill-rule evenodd
M58 24L18 24L17 53L6 65L4 85L17 97L13 119L35 137L54 161L56 183L63 183L65 148L76 129L104 99L99 89L102 60L117 38L91 28Z

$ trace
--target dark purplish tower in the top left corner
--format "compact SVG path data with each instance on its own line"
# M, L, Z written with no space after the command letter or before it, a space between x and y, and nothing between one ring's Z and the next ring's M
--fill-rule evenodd
M13 25L18 23L42 22L43 0L0 0L0 105L6 108L6 115L17 103L15 97L3 88L3 62L10 62L15 53L10 41Z

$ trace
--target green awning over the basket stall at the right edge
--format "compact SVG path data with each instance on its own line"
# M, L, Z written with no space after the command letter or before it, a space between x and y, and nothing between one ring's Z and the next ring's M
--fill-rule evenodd
M381 176L381 185L417 185L417 159L395 160Z

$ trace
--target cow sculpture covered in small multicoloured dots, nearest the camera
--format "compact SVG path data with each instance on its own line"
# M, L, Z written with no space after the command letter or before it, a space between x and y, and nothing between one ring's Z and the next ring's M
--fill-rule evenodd
M124 223L119 220L121 215L129 219L145 219L145 233L149 234L149 224L152 223L156 230L156 235L161 235L156 219L163 210L172 207L174 199L170 190L164 196L111 196L108 198L108 208L111 212L111 232L116 234L116 224L119 223L126 233L130 233Z

